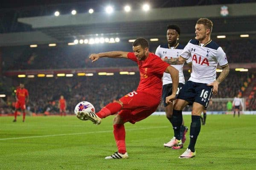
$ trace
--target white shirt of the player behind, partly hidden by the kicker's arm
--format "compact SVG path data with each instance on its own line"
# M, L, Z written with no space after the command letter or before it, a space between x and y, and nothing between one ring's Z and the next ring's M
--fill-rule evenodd
M177 43L175 47L169 48L168 44L159 45L156 49L156 55L162 59L177 58L183 51L184 45ZM186 60L187 63L192 62L191 58ZM185 78L183 74L183 65L172 65L179 71L179 83L185 84ZM163 85L172 83L172 78L169 73L163 73Z

